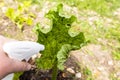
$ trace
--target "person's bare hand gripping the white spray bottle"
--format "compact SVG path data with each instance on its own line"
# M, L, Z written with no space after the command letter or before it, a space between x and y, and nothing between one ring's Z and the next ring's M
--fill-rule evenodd
M7 53L3 51L3 45L6 42L11 41L15 40L0 36L0 79L4 78L10 73L27 71L30 70L32 67L32 65L27 62L21 62L19 60L9 58Z

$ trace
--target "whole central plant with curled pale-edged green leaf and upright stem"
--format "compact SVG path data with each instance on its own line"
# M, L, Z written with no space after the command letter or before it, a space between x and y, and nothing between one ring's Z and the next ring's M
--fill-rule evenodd
M74 15L63 15L63 4L59 4L56 9L51 9L45 14L46 24L38 23L35 26L37 42L45 45L45 50L41 52L42 56L36 63L41 69L53 69L52 80L56 80L58 69L64 70L64 62L69 52L80 49L81 44L85 42L77 18Z

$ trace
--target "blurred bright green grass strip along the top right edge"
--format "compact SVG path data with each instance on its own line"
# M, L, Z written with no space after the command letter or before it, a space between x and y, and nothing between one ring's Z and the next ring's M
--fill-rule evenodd
M114 11L116 8L120 7L119 0L43 0L43 1L62 2L70 6L78 7L80 10L83 9L94 10L101 15L110 15L111 11ZM41 1L36 0L36 2L40 3Z

